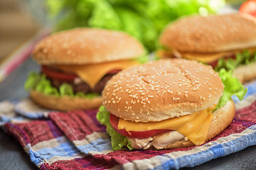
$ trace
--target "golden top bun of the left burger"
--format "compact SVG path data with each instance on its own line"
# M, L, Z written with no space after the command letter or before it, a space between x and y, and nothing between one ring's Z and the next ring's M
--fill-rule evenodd
M39 42L33 59L40 64L95 64L144 55L142 44L126 33L76 28L54 33Z

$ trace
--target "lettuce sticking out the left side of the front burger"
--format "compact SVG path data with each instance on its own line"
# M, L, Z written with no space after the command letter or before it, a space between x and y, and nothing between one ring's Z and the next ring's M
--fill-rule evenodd
M130 150L133 149L127 137L120 135L114 128L112 128L110 123L110 112L108 112L104 106L100 106L96 118L102 125L106 126L107 133L111 137L113 150L120 150L122 147L128 147Z

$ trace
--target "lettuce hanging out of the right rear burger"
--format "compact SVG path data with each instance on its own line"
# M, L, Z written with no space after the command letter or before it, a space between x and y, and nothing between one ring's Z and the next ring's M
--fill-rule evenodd
M227 71L232 71L238 67L240 64L251 64L256 62L256 53L251 54L249 51L245 50L235 55L235 59L220 59L218 64L215 66L215 71L218 72L221 68L225 68Z

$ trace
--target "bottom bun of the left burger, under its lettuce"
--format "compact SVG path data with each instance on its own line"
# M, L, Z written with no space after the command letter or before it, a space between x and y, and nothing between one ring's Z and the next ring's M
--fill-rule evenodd
M44 108L58 111L73 111L98 108L102 104L102 97L79 98L70 96L52 96L32 90L30 96L33 101Z

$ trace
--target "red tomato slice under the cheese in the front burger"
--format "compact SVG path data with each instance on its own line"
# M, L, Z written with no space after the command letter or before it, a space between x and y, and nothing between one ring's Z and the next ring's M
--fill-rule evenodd
M169 132L172 130L147 130L143 132L136 132L136 131L129 131L122 129L117 129L119 118L117 116L110 113L110 123L115 131L119 132L119 134L126 136L126 137L134 137L134 138L146 138L146 137L152 137L154 135L158 135L162 132Z

